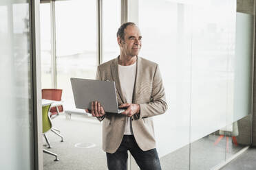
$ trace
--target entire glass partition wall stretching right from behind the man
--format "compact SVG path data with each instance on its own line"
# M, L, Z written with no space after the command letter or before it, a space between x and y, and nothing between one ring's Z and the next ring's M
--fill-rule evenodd
M138 1L140 56L169 103L154 117L162 169L212 169L250 145L254 16L237 3Z

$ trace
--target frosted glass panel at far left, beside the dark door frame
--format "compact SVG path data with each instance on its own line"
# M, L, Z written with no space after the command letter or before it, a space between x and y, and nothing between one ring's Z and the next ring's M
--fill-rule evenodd
M0 169L33 169L30 4L0 3Z

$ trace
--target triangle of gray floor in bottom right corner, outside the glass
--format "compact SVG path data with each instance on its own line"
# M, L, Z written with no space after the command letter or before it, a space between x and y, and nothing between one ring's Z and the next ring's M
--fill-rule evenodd
M249 148L244 154L231 161L221 170L255 170L256 148Z

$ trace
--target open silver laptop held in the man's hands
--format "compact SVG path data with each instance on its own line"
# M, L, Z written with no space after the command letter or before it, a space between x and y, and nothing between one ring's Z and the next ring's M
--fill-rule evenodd
M70 78L76 108L92 109L92 101L99 101L105 112L121 113L118 109L115 82Z

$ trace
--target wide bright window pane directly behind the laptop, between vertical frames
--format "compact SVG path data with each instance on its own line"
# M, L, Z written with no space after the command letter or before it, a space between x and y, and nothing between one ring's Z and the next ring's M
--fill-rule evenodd
M65 107L74 108L70 77L94 79L97 66L96 1L56 1L56 82Z

